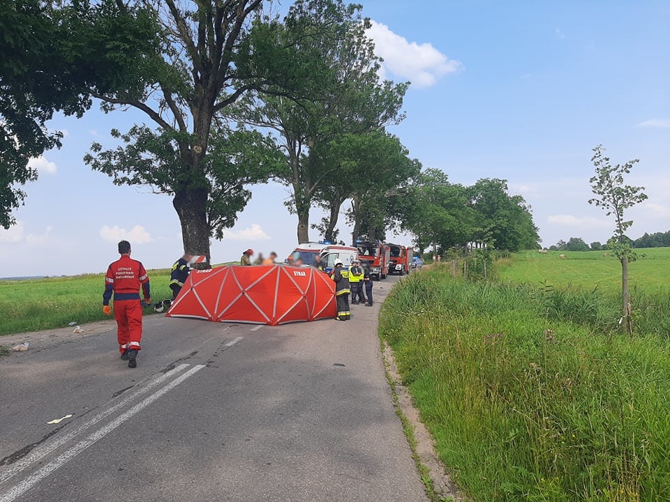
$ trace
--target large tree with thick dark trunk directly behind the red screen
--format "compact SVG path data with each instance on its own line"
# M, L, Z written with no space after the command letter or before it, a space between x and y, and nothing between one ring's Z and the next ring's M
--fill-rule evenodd
M271 158L255 159L255 169L244 150L230 152L230 130L217 122L247 91L278 93L288 82L276 71L290 63L287 48L267 43L274 29L267 26L274 25L262 15L264 3L269 0L147 3L163 43L144 61L140 89L94 94L105 110L134 107L153 124L115 132L124 146L103 151L94 144L86 161L114 183L150 185L172 195L184 248L208 261L210 237L232 225L246 204L248 194L240 197L239 190L248 181L267 180L271 171Z

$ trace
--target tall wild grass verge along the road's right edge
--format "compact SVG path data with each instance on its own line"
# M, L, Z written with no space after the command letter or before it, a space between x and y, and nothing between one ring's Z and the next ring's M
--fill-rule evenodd
M380 333L475 501L670 500L667 338L603 335L567 313L438 266L394 288Z

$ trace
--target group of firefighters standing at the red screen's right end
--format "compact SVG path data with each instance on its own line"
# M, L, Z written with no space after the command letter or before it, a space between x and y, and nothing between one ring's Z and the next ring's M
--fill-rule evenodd
M345 268L341 259L336 259L333 271L330 275L335 282L335 299L337 304L338 321L349 321L351 319L351 307L349 304L349 295L351 295L351 304L364 304L366 307L372 307L372 289L373 282L370 275L369 266L361 266L359 260L352 261L350 267ZM364 293L365 290L365 293Z

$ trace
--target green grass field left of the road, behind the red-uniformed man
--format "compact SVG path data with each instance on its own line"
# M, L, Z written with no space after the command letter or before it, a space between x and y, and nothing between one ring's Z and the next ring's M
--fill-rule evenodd
M152 301L172 298L170 271L148 272ZM0 335L108 319L102 311L104 289L104 274L0 281Z

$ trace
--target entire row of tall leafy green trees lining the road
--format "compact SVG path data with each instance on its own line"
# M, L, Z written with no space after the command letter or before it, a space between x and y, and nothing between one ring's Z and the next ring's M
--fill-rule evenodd
M290 190L297 239L337 238L343 212L357 238L409 231L435 250L470 242L537 246L523 198L504 180L465 187L422 172L386 128L404 119L408 82L380 81L361 7L297 0L280 18L269 0L17 0L0 4L0 225L36 178L29 158L59 146L53 113L147 116L120 146L84 161L117 185L172 196L184 247L209 258L251 198L274 179ZM320 206L326 217L309 220Z

